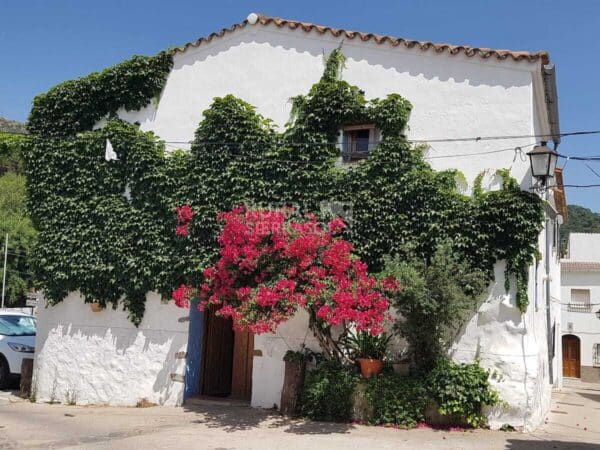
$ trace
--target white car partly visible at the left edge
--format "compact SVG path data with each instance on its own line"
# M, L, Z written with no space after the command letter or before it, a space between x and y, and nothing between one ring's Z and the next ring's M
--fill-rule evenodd
M33 358L35 331L35 317L0 311L0 389L21 374L23 358Z

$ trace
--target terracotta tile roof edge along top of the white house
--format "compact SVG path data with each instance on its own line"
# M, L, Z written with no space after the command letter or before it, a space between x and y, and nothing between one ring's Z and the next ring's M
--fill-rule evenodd
M330 34L334 37L344 37L345 39L354 40L359 39L363 42L367 42L373 40L377 44L385 44L388 43L394 47L404 46L405 48L418 48L421 51L430 51L433 50L435 53L448 53L450 55L464 54L468 57L478 56L482 59L495 58L497 60L503 61L506 59L512 59L513 61L528 61L528 62L537 62L542 61L543 64L547 64L550 61L550 56L546 51L539 52L525 52L525 51L514 51L514 50L504 50L504 49L492 49L492 48L480 48L480 47L470 47L468 45L452 45L446 43L435 43L429 41L415 41L411 39L403 39L397 38L393 36L384 36L380 34L373 33L362 33L358 31L350 31L341 28L332 28L323 25L315 25L308 22L299 22L296 20L288 20L282 19L280 17L270 17L262 14L250 14L248 19L244 20L241 23L237 23L232 25L229 28L223 28L221 31L217 33L211 33L207 37L202 37L195 42L190 42L185 44L182 47L176 48L175 52L185 52L190 47L198 47L201 44L208 43L215 38L223 37L226 34L230 34L235 32L236 30L240 30L245 28L248 25L275 25L278 28L288 28L290 30L296 30L298 28L303 31L310 33L312 31L316 31L319 34Z

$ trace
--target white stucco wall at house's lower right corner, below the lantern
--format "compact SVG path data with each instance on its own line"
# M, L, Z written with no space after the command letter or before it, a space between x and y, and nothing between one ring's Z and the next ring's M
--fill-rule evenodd
M551 228L552 229L552 228ZM548 364L548 327L545 293L545 231L540 234L542 259L529 271L529 307L522 314L516 306L514 292L504 290L503 262L496 264L496 281L488 297L450 350L453 359L469 362L479 358L482 367L497 377L492 385L508 407L488 411L492 428L503 424L531 430L543 420L550 406L552 385ZM560 266L554 249L550 255L550 295L560 298ZM550 303L551 321L556 322L553 358L553 384L560 383L560 314L559 306Z

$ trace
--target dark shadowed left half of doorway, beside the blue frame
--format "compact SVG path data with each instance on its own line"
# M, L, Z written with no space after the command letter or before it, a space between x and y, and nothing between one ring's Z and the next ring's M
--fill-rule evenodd
M231 319L205 312L202 394L226 397L231 394L233 328Z

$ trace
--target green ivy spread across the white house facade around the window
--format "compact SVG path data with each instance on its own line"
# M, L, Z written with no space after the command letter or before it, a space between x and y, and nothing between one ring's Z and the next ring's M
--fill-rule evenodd
M25 158L40 230L37 272L51 302L79 290L86 301L122 301L137 324L147 291L166 294L183 279L197 282L199 269L214 261L217 212L240 203L320 211L337 201L352 205L346 237L371 270L407 245L431 258L449 240L488 280L494 263L506 259L525 310L539 199L516 183L473 197L458 193L457 172L434 171L423 148L407 141L410 102L398 94L367 101L340 79L340 49L321 80L293 99L293 119L282 132L232 95L204 111L191 152L166 155L151 133L117 119L91 131L119 108L147 105L171 65L169 53L135 57L34 100ZM382 142L368 160L342 166L334 144L340 126L365 122L381 130ZM107 138L118 161L104 160ZM182 203L197 213L190 238L174 236L174 208Z

